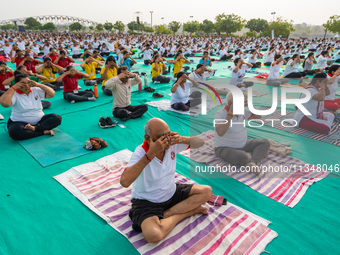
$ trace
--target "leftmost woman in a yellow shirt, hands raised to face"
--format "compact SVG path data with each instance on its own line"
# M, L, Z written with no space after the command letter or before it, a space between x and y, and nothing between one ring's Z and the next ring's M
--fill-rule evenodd
M36 71L42 76L47 77L46 80L41 81L42 84L54 89L55 91L63 88L63 83L57 82L57 73L63 73L65 72L65 69L53 64L50 57L45 57L44 64L39 66Z

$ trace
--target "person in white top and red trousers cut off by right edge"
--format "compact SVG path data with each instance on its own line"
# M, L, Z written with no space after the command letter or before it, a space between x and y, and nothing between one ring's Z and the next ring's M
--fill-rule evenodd
M330 94L325 97L325 108L330 111L337 111L340 108L340 98L335 98L335 93L339 87L340 65L332 65L328 69L327 78Z

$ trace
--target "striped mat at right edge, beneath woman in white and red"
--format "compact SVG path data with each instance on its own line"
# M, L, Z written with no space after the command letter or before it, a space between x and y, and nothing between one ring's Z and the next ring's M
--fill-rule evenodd
M265 109L265 108L263 108ZM290 124L285 122L285 126L283 127L281 125L281 121L285 120L285 119L294 119L295 116L295 112L290 112L287 111L287 114L285 116L281 115L281 110L278 109L276 110L274 113L272 113L271 115L266 116L265 119L279 119L280 121L276 121L276 125L274 124L273 128L276 129L280 129L292 134L296 134L296 135L301 135L304 137L308 137L314 140L318 140L324 143L330 143L333 144L335 146L340 146L340 122L339 122L339 113L335 113L335 120L332 124L331 127L331 131L328 134L320 134L320 133L315 133L312 131L308 131L306 129L303 128L298 128L298 127L290 127ZM272 121L265 121L264 125L266 126L270 126L272 127Z

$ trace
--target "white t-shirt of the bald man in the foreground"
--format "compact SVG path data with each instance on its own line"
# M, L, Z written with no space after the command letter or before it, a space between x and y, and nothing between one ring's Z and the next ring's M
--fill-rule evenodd
M157 157L153 158L133 182L131 198L145 199L153 203L168 201L176 191L176 154L188 148L187 144L175 144L165 152L163 161ZM136 164L145 157L148 150L149 146L144 141L136 148L126 167Z

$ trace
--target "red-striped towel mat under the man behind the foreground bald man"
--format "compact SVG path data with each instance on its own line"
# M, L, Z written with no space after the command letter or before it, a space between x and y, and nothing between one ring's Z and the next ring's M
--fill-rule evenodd
M204 132L198 135L198 137L205 141L204 146L196 150L190 149L181 152L182 155L196 162L206 163L209 166L229 166L227 162L222 161L222 159L215 155L214 131ZM329 174L329 172L322 169L313 171L313 169L316 170L316 167L313 168L313 165L287 155L281 156L274 152L269 152L269 157L262 162L262 165L268 168L269 166L276 167L277 171L268 171L261 176L241 171L228 172L225 170L222 172L257 192L291 208L300 201L309 186L314 182L322 180ZM286 168L282 168L282 166ZM296 166L295 169L294 166ZM280 169L284 169L284 171L280 171Z

